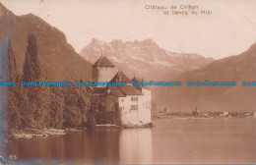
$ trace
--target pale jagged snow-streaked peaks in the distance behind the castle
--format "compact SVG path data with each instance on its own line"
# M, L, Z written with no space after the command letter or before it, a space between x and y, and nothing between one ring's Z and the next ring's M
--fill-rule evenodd
M212 58L204 58L197 54L173 53L164 50L150 38L126 42L122 40L103 42L93 38L80 54L92 63L95 63L101 54L105 54L129 77L135 75L153 81L172 79L184 71L213 61Z

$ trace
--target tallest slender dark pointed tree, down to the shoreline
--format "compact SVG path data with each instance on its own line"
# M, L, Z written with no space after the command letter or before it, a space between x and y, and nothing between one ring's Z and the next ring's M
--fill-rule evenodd
M28 36L28 46L23 66L23 81L38 81L41 78L37 56L37 42L33 34ZM42 129L49 126L49 89L45 86L21 87L22 119L24 127ZM30 124L30 122L32 122Z

